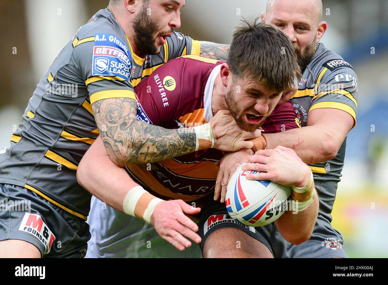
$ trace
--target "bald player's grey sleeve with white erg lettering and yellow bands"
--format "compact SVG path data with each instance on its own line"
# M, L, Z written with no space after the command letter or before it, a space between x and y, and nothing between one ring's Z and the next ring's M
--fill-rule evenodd
M317 79L310 111L333 108L347 112L356 125L358 79L353 67L343 59L323 64ZM310 112L309 111L309 112Z

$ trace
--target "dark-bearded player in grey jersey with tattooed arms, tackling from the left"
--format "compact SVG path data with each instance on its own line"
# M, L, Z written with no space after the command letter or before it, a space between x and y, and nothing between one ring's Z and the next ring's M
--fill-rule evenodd
M0 257L85 255L91 195L78 185L76 169L99 134L117 164L196 150L196 132L178 133L137 120L133 89L152 70L181 55L226 59L224 45L205 42L201 47L173 32L184 4L111 0L59 53L29 100L10 147L0 152L0 200L31 201L28 212L0 211ZM121 124L123 117L131 123ZM240 130L226 112L214 118L209 125L218 149L250 146L244 140L258 135ZM235 128L226 134L225 124ZM159 143L169 149L159 152Z

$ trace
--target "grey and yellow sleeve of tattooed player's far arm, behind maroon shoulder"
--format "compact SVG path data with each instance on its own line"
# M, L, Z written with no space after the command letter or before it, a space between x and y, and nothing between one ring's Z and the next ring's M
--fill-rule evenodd
M174 32L163 45L165 62L184 55L199 55L201 43L182 33Z

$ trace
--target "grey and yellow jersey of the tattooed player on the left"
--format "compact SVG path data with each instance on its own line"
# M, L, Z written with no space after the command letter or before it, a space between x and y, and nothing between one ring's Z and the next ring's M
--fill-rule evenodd
M78 185L76 170L99 135L91 104L135 99L133 86L154 69L199 50L199 41L173 33L160 54L142 59L133 54L109 7L97 12L36 86L10 147L0 153L0 183L26 187L86 219L91 195Z

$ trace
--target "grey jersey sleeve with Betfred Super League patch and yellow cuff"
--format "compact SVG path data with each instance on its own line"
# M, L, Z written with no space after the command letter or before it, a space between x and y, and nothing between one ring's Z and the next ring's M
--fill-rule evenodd
M90 104L107 98L136 100L131 84L132 57L126 43L109 33L75 38L74 61L87 86Z

